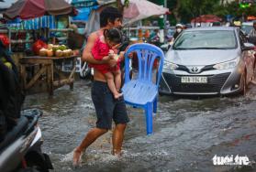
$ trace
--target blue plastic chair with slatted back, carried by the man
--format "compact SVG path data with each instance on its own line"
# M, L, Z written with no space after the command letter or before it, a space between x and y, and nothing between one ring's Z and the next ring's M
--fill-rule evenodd
M137 53L139 63L138 78L129 78L130 58L128 54ZM155 59L159 65L155 83L152 81L152 72ZM147 134L152 134L152 113L157 112L158 87L161 79L164 54L161 48L147 43L138 43L130 46L125 54L125 84L122 88L125 102L145 110Z

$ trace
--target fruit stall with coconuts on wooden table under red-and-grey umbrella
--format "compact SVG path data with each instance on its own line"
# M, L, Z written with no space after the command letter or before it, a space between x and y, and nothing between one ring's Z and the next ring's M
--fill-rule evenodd
M17 33L25 32L25 34L32 32L34 36L39 34L41 37L39 39L38 37L25 37L19 38L17 41L11 40L12 44L26 45L33 43L32 54L18 59L22 86L25 91L42 84L47 85L50 95L53 94L54 89L65 84L70 85L72 89L77 54L65 45L58 45L59 42L67 38L49 38L50 34L56 32L66 33L64 35L68 37L68 33L72 29L56 27L58 24L54 22L54 19L59 16L74 16L76 13L76 9L64 0L17 0L3 14L6 19L14 20L18 18L23 20L22 29L6 29L9 38L12 39L12 32L15 31ZM50 19L52 19L51 23ZM56 45L47 45L47 40ZM67 61L72 64L72 69L62 72L62 64Z

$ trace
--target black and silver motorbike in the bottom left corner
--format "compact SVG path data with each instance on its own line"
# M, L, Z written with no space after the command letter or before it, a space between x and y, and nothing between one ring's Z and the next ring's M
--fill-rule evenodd
M53 169L50 157L42 153L43 143L39 128L38 109L28 109L21 112L11 131L0 143L1 172L48 172Z

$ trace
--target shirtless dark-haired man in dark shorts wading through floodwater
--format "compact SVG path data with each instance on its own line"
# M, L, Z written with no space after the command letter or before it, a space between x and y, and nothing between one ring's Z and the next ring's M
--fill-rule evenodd
M96 60L92 55L92 48L95 40L103 35L104 29L112 27L121 27L122 15L115 7L106 7L100 14L100 29L92 33L83 49L83 60L91 64L109 64L115 66L115 59ZM95 104L95 112L97 116L96 126L91 129L83 138L82 143L74 149L73 165L77 166L80 162L82 152L93 144L95 140L102 134L106 134L112 128L112 120L116 126L112 135L113 150L112 154L120 156L121 148L124 140L124 132L129 121L126 104L123 96L115 100L112 92L108 89L105 76L95 70L94 82L92 85L92 100Z

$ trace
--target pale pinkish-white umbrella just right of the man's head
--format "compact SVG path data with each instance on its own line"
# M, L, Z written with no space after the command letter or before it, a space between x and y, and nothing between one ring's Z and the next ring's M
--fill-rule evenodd
M155 5L147 0L129 0L128 7L124 8L124 18L128 20L126 24L150 17L170 14L169 9L161 5Z

